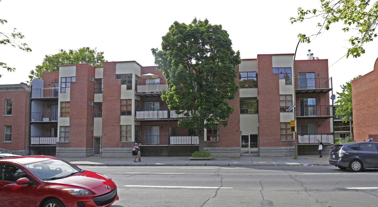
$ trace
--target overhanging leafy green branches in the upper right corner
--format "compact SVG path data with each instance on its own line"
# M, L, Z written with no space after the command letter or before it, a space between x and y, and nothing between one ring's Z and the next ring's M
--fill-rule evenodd
M318 35L322 31L330 29L333 23L342 21L345 25L342 31L358 31L358 36L352 36L349 39L352 47L348 49L347 57L352 55L357 58L364 54L364 43L373 41L373 38L377 37L375 28L378 25L378 2L373 2L372 5L370 5L370 0L320 0L320 2L320 9L298 8L298 16L291 17L291 23L320 16L324 21L317 24L319 31L314 35ZM302 42L307 43L310 42L311 36L298 35L303 40Z

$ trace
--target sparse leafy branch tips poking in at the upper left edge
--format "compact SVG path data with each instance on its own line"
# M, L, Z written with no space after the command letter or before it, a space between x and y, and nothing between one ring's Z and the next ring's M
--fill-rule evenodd
M0 1L1 2L1 1ZM0 19L0 23L4 25L4 23L7 23L5 19ZM0 32L0 44L9 44L14 48L19 48L26 52L31 52L31 49L26 43L20 43L20 39L23 39L24 35L22 35L20 32L16 32L16 28L13 28L13 32L11 33L5 33ZM9 67L6 63L0 62L0 67L5 68L7 71L15 71L14 67ZM0 78L2 75L0 74Z

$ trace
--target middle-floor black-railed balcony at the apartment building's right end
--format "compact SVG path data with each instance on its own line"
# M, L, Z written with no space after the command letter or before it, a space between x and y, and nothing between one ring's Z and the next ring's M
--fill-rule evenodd
M297 106L297 119L318 119L318 118L332 118L330 112L330 105L316 105L316 106Z

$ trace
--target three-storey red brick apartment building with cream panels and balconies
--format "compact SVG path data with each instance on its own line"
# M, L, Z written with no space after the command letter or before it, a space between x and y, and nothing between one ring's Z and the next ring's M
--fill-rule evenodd
M227 127L205 130L204 150L214 156L294 156L294 112L286 112L294 92L299 152L316 152L317 139L333 143L328 60L296 60L294 76L293 56L257 55L236 66L240 90L229 101L235 111ZM190 155L198 150L198 136L177 126L184 117L161 100L166 88L156 66L136 61L43 72L42 80L32 81L31 153L128 157L137 142L145 156Z

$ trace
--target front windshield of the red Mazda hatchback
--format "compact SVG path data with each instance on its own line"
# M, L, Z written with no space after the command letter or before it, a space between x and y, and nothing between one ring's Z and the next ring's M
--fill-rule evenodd
M79 172L84 172L84 170L61 159L49 159L37 163L25 164L24 166L42 180L60 179Z

